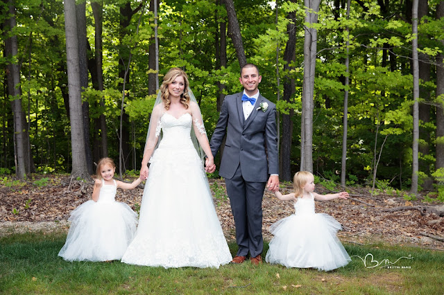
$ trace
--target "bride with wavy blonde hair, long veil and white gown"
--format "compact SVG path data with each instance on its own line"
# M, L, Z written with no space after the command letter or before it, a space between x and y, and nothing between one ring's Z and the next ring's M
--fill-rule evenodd
M164 76L140 170L147 180L139 226L122 262L219 268L232 260L203 169L205 155L207 168L214 167L214 159L188 86L181 69Z

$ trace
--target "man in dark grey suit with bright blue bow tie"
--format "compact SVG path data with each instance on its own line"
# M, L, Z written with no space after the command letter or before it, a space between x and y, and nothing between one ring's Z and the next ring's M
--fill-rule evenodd
M219 175L225 178L236 226L239 249L233 263L244 262L248 252L253 264L262 262L262 196L265 186L279 188L276 106L260 95L261 80L255 64L242 66L244 91L225 96L210 141L215 156L227 136Z

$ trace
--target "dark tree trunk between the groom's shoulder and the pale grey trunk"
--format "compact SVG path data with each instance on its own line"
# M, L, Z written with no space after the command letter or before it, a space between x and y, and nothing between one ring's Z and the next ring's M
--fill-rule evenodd
M296 2L292 0L293 2ZM276 8L277 9L277 8ZM289 77L289 72L294 69L294 66L290 64L294 62L296 58L296 12L289 12L287 16L290 19L289 24L287 24L287 32L289 34L289 39L284 51L284 73L287 76L284 77L284 95L282 100L287 102L291 101L291 97L294 94L295 86L294 79ZM291 139L293 138L293 108L289 109L289 114L282 114L282 140L280 143L280 152L282 154L282 167L280 172L280 177L284 181L291 181Z

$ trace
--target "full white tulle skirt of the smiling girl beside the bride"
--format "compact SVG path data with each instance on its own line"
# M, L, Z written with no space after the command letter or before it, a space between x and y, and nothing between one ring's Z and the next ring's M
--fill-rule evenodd
M120 260L137 228L137 213L121 202L89 200L69 217L71 226L58 256L68 261Z

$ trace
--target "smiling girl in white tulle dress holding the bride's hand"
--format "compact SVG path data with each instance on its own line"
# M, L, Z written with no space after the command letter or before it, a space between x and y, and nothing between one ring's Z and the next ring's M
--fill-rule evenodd
M117 188L135 188L142 179L132 184L116 181L115 170L112 159L99 161L92 199L71 212L71 227L58 256L68 261L107 261L120 260L125 253L136 231L137 213L114 197Z

